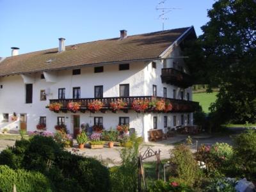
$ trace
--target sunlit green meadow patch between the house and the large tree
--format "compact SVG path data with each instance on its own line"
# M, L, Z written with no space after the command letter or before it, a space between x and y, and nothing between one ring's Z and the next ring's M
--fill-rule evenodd
M209 107L216 101L217 92L212 93L193 93L193 101L199 102L205 113L209 113Z

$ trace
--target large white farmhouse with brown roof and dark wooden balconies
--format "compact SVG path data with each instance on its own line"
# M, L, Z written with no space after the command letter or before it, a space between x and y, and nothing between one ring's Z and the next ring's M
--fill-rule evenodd
M12 56L0 58L0 129L36 131L42 123L54 132L65 124L74 134L82 124L129 124L147 141L150 129L193 125L193 79L182 49L195 38L191 26L132 36L122 30L118 38L68 46L60 38L58 48L20 55L12 47ZM149 107L161 99L170 109ZM99 111L89 108L93 100L103 104ZM147 109L135 111L134 100ZM117 101L125 106L115 111L111 102ZM69 102L79 103L76 113ZM60 111L49 110L54 103Z

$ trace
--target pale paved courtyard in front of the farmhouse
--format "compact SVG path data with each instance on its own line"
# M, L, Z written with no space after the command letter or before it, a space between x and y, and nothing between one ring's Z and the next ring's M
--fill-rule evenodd
M144 154L144 152L147 150L148 147L150 147L153 151L160 150L160 158L161 159L168 159L170 157L170 150L175 147L175 145L179 143L184 143L186 138L188 138L188 135L184 134L177 134L172 138L168 138L166 140L157 141L157 142L148 142L148 143L141 143L140 145L140 153L141 155ZM211 136L207 134L202 135L196 135L191 136L193 138L193 145L191 145L191 150L193 152L196 151L196 146L200 146L202 144L205 145L212 145L216 142L219 143L228 143L232 145L232 138L230 136ZM198 141L196 144L196 140ZM7 146L13 146L15 143L14 140L0 140L0 151L6 148ZM86 146L84 149L78 149L76 148L76 142L74 143L73 148L66 148L66 150L79 154L81 156L85 157L94 157L101 161L102 163L113 166L118 165L121 163L120 158L120 150L123 147L114 147L114 148L108 148L105 146L104 148L100 149L91 149ZM145 161L155 161L156 157L150 157L148 159L145 159Z

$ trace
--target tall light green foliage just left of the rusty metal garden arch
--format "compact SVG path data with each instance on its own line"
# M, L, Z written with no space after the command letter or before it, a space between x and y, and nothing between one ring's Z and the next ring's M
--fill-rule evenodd
M131 136L131 147L122 148L120 157L122 164L110 170L111 188L113 192L136 191L138 186L138 153L140 138Z

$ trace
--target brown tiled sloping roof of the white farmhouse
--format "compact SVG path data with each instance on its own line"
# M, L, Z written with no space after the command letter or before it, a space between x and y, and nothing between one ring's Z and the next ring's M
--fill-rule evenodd
M58 70L82 65L116 61L147 60L158 58L188 28L171 29L142 35L111 38L71 45L58 53L58 48L10 56L0 62L0 76L46 70ZM46 62L51 60L51 62Z

